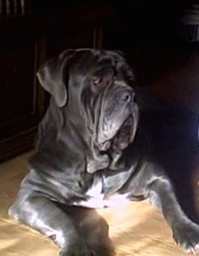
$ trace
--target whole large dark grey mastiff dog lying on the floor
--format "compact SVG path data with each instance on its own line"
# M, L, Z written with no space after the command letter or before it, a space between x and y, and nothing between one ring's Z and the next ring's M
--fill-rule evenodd
M52 98L9 215L51 236L62 256L92 255L58 204L99 208L150 199L184 249L199 252L199 228L179 207L138 125L134 74L118 52L67 50L38 72Z

